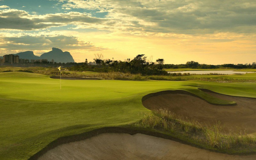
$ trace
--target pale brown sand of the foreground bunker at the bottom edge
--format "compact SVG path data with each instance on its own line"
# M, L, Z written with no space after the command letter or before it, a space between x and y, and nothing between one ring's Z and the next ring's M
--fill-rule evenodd
M59 159L255 159L256 155L234 156L191 147L180 142L145 134L104 133L66 143L49 150L40 160Z

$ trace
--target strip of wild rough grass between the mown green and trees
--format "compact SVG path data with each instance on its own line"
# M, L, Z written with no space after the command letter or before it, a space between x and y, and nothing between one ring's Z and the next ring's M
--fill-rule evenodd
M174 69L176 70L212 70L212 69L189 69L181 68ZM218 70L232 70L232 69L218 69ZM14 72L14 71L26 71L34 72L44 75L51 76L60 76L60 72L57 68L52 67L0 67L0 72ZM214 70L213 70L214 71ZM256 69L236 69L236 71L248 71L256 72ZM235 75L195 75L187 73L172 73L166 76L161 75L151 75L151 76L142 76L140 74L130 74L130 73L121 73L121 72L108 72L108 73L97 73L91 71L68 71L67 68L63 68L61 72L62 77L80 77L80 78L97 78L104 80L170 80L170 81L182 81L182 80L202 80L202 81L212 81L212 82L221 82L221 83L230 83L230 82L256 82L256 73L247 73L247 74L235 74Z

